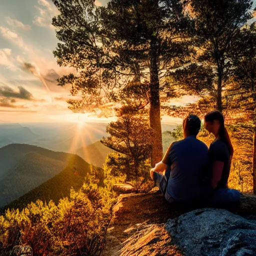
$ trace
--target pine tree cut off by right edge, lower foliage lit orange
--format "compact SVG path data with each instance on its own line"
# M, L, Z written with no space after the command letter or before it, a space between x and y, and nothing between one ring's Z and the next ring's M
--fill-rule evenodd
M256 193L256 27L246 25L233 43L231 107L237 117L253 124L253 191Z

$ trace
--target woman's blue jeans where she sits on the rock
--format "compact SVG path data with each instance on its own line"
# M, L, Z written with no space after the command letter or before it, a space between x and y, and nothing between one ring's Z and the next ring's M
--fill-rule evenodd
M211 202L218 205L237 203L240 200L240 192L231 188L218 188L213 191Z

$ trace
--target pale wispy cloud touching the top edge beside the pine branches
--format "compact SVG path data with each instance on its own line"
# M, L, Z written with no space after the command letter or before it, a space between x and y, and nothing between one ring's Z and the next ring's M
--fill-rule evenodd
M35 5L35 8L38 10L39 15L34 16L33 24L54 28L51 25L51 19L58 14L57 8L47 0L37 0L37 3L39 6Z

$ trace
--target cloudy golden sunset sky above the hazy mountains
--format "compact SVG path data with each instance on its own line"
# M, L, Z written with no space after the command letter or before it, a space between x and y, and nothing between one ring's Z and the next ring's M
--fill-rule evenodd
M66 102L72 98L68 87L56 85L58 76L70 72L52 54L57 39L51 18L57 14L51 0L0 0L0 122L98 120L72 113ZM163 119L168 118L172 121Z

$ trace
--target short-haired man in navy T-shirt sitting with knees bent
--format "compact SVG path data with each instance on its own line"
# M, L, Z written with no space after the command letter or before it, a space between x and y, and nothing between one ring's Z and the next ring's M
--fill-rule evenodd
M162 160L150 170L151 178L168 202L187 203L202 196L208 147L196 138L200 127L198 116L187 116L183 120L184 139L170 144Z

